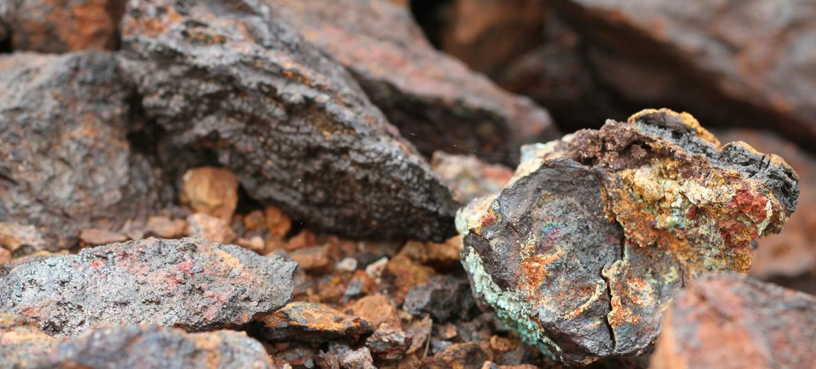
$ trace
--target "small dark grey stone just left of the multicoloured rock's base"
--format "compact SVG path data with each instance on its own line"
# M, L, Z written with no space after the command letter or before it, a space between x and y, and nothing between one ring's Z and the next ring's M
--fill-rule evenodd
M435 322L451 318L470 318L476 301L465 279L451 275L437 275L428 283L411 288L402 308L415 317L431 314Z

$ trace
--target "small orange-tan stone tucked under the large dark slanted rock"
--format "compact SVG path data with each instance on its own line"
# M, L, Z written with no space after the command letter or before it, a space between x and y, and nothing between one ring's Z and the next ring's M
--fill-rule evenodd
M232 222L238 204L238 178L229 169L189 169L181 184L181 203L193 212Z

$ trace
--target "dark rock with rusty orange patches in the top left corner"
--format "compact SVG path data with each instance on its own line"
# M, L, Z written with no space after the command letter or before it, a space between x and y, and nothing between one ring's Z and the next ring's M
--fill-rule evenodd
M0 25L7 25L15 51L113 50L124 11L125 0L7 0Z

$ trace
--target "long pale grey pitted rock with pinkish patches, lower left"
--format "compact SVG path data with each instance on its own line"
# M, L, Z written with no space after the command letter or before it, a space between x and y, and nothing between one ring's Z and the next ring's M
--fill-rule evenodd
M16 266L0 283L0 312L54 336L118 323L232 327L286 305L295 266L202 239L109 244Z

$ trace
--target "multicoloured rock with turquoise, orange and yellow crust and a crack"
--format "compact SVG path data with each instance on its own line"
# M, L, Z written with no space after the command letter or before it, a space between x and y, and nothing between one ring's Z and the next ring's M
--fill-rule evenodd
M457 217L472 288L565 362L636 354L703 272L751 266L796 207L793 170L722 145L688 114L645 110L524 147L508 187Z

